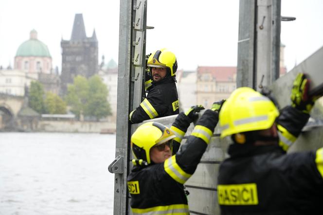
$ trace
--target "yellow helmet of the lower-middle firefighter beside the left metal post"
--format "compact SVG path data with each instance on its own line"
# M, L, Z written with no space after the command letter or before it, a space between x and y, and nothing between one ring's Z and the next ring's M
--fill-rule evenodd
M131 149L136 159L150 163L149 151L155 145L172 140L176 135L165 125L149 122L140 125L131 136Z

